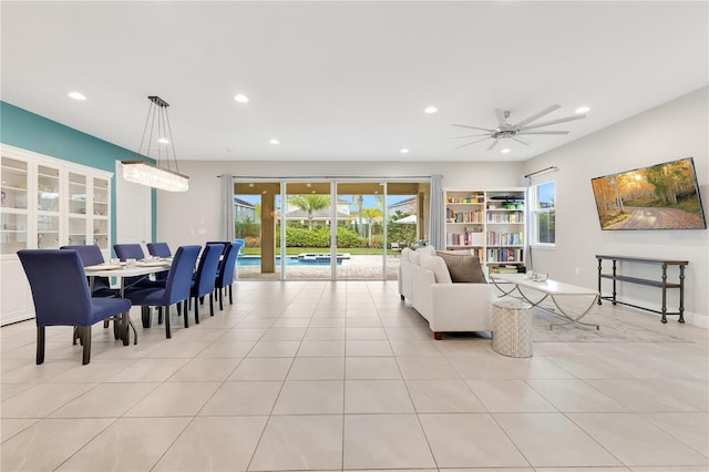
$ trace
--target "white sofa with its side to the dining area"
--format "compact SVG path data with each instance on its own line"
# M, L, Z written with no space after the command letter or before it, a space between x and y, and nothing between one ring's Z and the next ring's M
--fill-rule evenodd
M492 330L492 286L452 283L431 247L401 252L399 294L429 321L436 340L443 332Z

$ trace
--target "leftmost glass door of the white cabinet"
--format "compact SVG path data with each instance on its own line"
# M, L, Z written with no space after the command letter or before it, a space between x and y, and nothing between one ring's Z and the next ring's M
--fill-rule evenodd
M2 157L2 206L0 222L0 243L2 254L14 254L27 249L27 163Z

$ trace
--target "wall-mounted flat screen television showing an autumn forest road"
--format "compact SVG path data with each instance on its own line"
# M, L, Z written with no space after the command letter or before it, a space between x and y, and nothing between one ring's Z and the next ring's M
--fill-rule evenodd
M691 157L590 181L600 229L706 229Z

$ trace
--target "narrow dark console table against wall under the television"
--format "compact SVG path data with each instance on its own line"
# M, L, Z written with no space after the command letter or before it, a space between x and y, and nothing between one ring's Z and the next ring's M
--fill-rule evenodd
M679 322L685 322L685 266L689 264L688 260L671 260L671 259L654 259L649 257L628 257L628 256L606 256L606 255L596 255L596 259L598 259L598 291L602 294L600 298L598 298L598 305L600 305L600 300L609 300L613 305L620 304L626 305L633 308L639 308L646 311L653 311L655 314L662 315L662 322L667 322L667 315L679 315ZM613 261L613 273L604 274L603 273L603 261L612 260ZM654 264L657 266L661 266L662 273L660 280L650 280L638 277L629 277L618 274L618 263L634 263L634 264ZM679 281L678 283L668 283L667 281L667 266L678 266L679 267ZM603 296L603 291L600 290L600 280L604 278L608 278L613 280L613 295L612 296ZM641 307L638 305L628 304L626 301L620 301L616 298L616 283L624 281L628 284L638 284L645 285L648 287L657 287L662 289L662 309L661 311L655 310L653 308ZM679 310L678 311L667 311L667 289L668 288L678 288L679 289Z

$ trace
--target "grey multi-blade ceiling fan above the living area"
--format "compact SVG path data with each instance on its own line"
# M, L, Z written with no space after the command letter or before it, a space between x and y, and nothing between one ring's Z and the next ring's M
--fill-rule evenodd
M500 142L500 140L505 140L505 138L510 138L513 141L516 141L517 143L522 143L524 145L530 145L530 143L527 143L524 140L521 140L518 136L524 136L524 135L528 135L528 134L568 134L568 131L534 131L534 130L538 130L540 127L544 127L544 126L549 126L553 124L558 124L558 123L566 123L567 121L574 121L574 120L580 120L580 119L585 119L586 115L585 114L577 114L577 115L573 115L573 116L566 116L566 117L562 117L558 120L552 120L552 121L546 121L543 123L535 123L533 124L533 122L535 122L536 120L541 119L544 115L547 115L549 113L552 113L554 110L559 109L561 105L552 105L548 106L544 110L542 110L538 113L533 114L532 116L522 120L518 123L515 124L510 124L507 123L507 119L510 117L510 111L508 110L502 110L502 109L495 109L495 115L497 116L497 127L494 129L489 129L489 127L480 127L480 126L469 126L466 124L453 124L453 126L459 126L459 127L467 127L471 130L480 130L480 131L484 131L484 133L480 133L480 134L467 134L464 136L453 136L451 137L451 140L460 140L463 137L477 137L477 136L485 136L481 140L475 140L472 141L470 143L463 144L462 146L458 146L455 147L456 150L460 150L461 147L465 147L465 146L470 146L472 144L475 143L480 143L482 141L485 140L493 140L492 144L490 145L490 147L487 147L487 151L492 150L493 147L495 147L497 145L497 143Z

